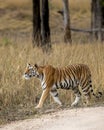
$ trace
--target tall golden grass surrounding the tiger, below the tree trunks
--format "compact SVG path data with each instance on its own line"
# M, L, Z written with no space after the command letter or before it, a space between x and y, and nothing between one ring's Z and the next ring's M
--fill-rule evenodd
M95 92L104 90L104 45L103 44L55 44L50 54L44 54L30 43L0 47L0 106L33 105L40 97L41 87L34 78L23 80L26 64L51 64L56 67L69 64L87 64L92 72ZM64 92L64 91L63 91ZM61 94L63 94L61 92ZM70 94L67 94L68 96ZM61 97L63 102L63 96ZM66 97L67 98L67 97ZM70 104L70 99L67 101Z

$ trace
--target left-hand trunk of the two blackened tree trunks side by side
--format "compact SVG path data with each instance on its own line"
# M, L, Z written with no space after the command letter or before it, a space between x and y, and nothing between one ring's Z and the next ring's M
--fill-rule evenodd
M33 46L41 45L40 0L33 0Z

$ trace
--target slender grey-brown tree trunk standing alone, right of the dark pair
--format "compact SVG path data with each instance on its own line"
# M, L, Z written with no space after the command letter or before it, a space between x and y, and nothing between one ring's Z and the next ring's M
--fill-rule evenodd
M69 15L69 3L68 0L63 0L63 14L64 14L64 41L71 43L71 30L70 30L70 15Z

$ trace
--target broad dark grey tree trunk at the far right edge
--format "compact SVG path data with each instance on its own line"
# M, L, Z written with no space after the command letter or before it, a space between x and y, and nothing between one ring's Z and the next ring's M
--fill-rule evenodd
M101 29L104 27L104 10L101 0L92 0L91 3L91 28L93 30L93 37L96 40L103 40L103 32ZM97 29L97 30L96 30Z

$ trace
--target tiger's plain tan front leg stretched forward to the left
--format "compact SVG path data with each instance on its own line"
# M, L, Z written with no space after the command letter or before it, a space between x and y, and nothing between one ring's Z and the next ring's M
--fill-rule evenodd
M50 88L46 88L45 90L43 90L43 93L41 95L41 98L39 100L39 104L35 107L35 108L41 108L46 100L46 98L48 97L50 92Z

